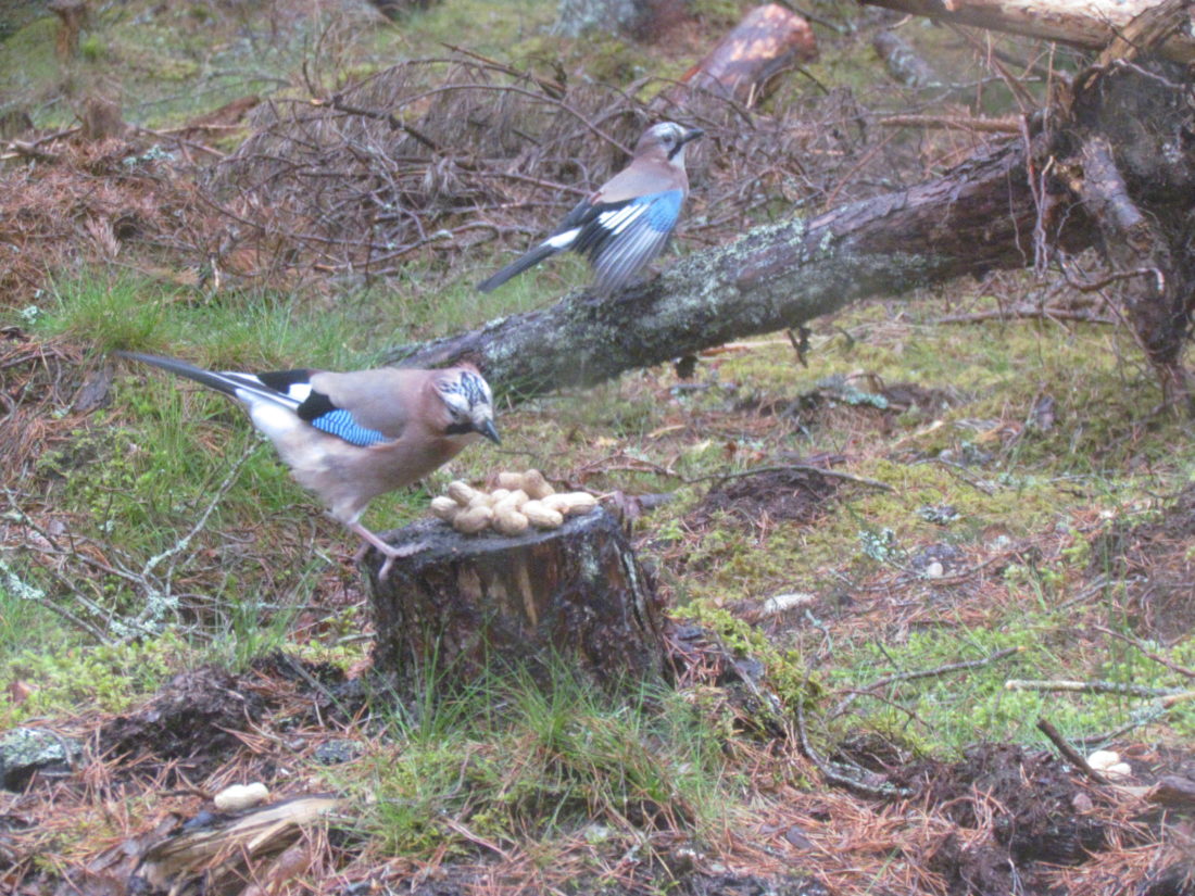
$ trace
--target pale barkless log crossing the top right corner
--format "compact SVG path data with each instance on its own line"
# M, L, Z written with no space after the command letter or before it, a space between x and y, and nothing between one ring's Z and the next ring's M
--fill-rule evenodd
M993 31L1099 50L1129 22L1158 6L1158 0L859 0L936 22L976 25ZM1189 17L1188 17L1189 20ZM1158 48L1175 62L1195 60L1190 29L1176 30Z

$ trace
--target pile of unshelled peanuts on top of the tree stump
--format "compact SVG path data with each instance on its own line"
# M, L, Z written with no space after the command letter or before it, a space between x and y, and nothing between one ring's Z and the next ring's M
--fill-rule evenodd
M490 527L503 535L520 535L532 526L554 529L565 516L595 507L598 498L587 491L557 493L538 470L498 473L490 492L458 479L448 484L447 495L431 499L431 513L466 535Z

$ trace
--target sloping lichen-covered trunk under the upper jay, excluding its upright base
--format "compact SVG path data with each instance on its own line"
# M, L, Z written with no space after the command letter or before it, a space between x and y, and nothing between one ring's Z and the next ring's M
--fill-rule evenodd
M1048 225L1047 225L1048 226ZM468 360L503 392L589 386L731 339L813 320L871 295L896 296L1035 258L1037 207L1025 145L1009 143L949 176L811 220L750 231L691 254L611 300L572 293L479 330L393 350L435 366ZM1090 244L1081 214L1072 247Z

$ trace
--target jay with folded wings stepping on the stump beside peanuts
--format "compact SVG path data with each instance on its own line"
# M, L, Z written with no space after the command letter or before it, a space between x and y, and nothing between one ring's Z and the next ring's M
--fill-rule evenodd
M235 398L277 449L300 485L333 520L386 556L379 573L421 546L396 548L361 524L370 498L430 473L480 436L500 443L490 387L473 367L355 373L202 370L183 361L118 351Z

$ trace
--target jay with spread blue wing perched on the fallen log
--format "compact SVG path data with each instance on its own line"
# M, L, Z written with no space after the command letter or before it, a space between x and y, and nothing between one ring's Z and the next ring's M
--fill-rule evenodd
M477 288L489 293L566 248L589 257L600 294L625 287L660 254L676 227L688 196L685 145L703 133L673 122L648 128L630 165L578 202L551 237Z

